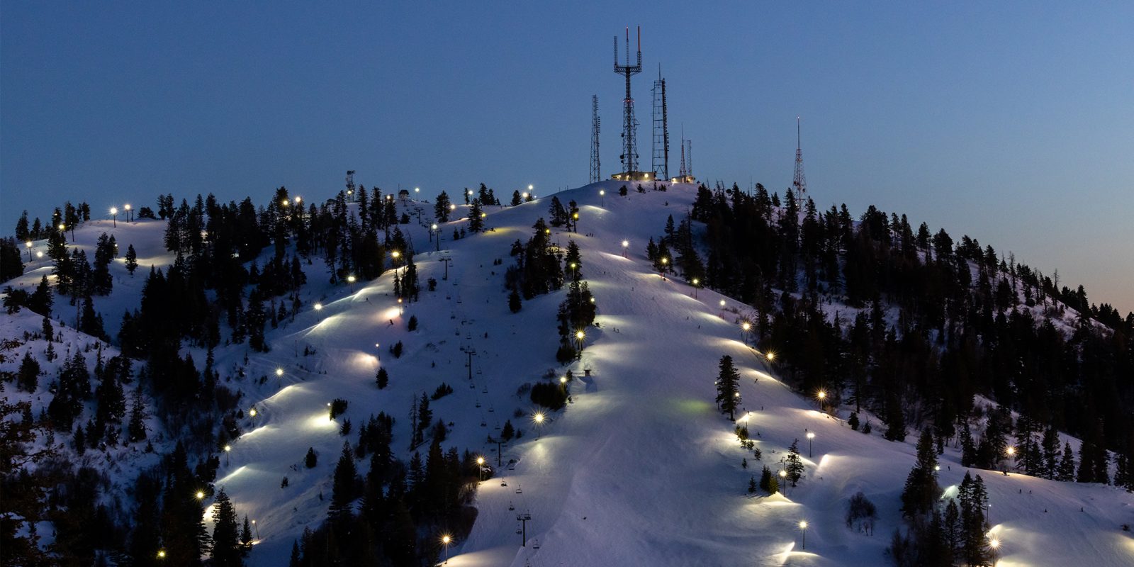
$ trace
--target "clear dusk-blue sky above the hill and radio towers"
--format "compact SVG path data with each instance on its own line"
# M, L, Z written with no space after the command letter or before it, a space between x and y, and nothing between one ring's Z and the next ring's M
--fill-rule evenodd
M700 178L782 191L801 115L820 205L905 212L1134 310L1134 5L995 3L6 0L0 223L330 195L347 169L430 195L579 186L591 94L618 167L611 36L641 25L643 160L660 62Z

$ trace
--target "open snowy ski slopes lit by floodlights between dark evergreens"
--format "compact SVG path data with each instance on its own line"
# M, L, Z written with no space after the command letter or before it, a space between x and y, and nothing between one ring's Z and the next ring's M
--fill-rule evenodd
M256 521L259 544L251 565L286 565L304 527L327 517L335 460L344 440L355 440L339 434L344 420L357 426L379 412L395 416L393 447L406 459L411 405L441 382L455 390L432 405L435 417L452 423L447 448L480 450L494 464L497 446L486 438L498 434L506 420L524 433L505 446L496 476L481 483L480 515L468 538L449 547L450 565L885 561L889 535L900 525L898 496L914 464L915 435L903 443L853 431L790 391L777 379L775 364L744 342L736 311L745 306L708 289L694 293L679 277L663 279L643 255L667 215L685 214L696 188L674 185L640 194L632 187L619 197L620 185L603 181L558 194L564 203L578 203L578 232L553 229L552 240L562 247L572 239L578 244L583 277L599 306L582 358L567 367L555 362L556 310L564 291L525 302L513 314L503 287L505 269L514 262L510 245L526 242L536 219L548 218L548 198L484 208L489 231L481 235L451 240L454 228L467 221L442 226L440 252L432 252L428 225L409 225L421 280L438 280L435 291L423 287L417 303L399 307L392 270L353 288L332 286L323 263L314 260L304 265L304 311L294 322L266 330L270 353L252 353L246 345L218 348L221 380L244 395L245 433L232 441L215 485L225 488L242 515ZM424 206L429 217L429 205L407 206ZM133 244L138 251L138 273L132 278L116 260L115 291L96 299L111 335L124 310L137 305L144 269L170 260L162 255L161 225L119 222L113 229L110 221L96 221L78 230L81 245L108 231L121 249ZM498 259L502 265L494 263ZM50 270L44 265L11 284L34 286ZM3 316L6 333L16 329L18 321ZM411 316L418 321L415 331L407 330ZM398 341L405 354L395 358L389 347ZM475 349L471 380L468 349ZM762 462L739 446L734 424L714 407L722 355L731 355L742 372L742 422ZM194 358L204 354L194 352ZM383 390L374 383L380 365L390 374ZM14 367L8 363L3 370ZM517 389L549 371L559 376L567 370L578 378L570 384L573 403L538 425L531 418L535 408ZM332 421L328 405L335 398L347 399L349 407ZM814 433L810 457L809 432ZM806 465L801 483L772 497L750 496L750 476L759 479L763 464L778 469L796 439ZM310 469L302 464L308 447L320 457ZM958 451L947 448L941 485L955 491L965 472ZM1120 530L1134 523L1134 496L1099 484L972 473L988 486L992 530L1002 541L998 565L1134 564L1134 539ZM285 476L289 485L281 488ZM874 535L844 523L847 499L860 491L879 507ZM526 547L521 545L519 514L531 515ZM806 549L801 521L809 523Z

